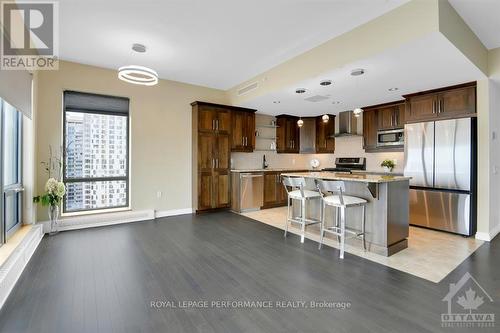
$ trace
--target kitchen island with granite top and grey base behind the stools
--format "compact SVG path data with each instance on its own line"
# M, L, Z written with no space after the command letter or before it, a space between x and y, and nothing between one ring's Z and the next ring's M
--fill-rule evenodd
M316 188L315 179L344 181L345 194L368 201L365 224L367 250L390 256L408 247L410 177L337 172L288 172L282 176L304 177L310 189ZM298 213L299 207L294 206L293 211ZM312 202L307 211L309 218L319 219L319 201ZM346 211L349 228L361 230L361 221L361 209L350 208ZM334 209L327 208L326 224L332 223ZM347 242L359 242L357 246L362 246L358 239Z

